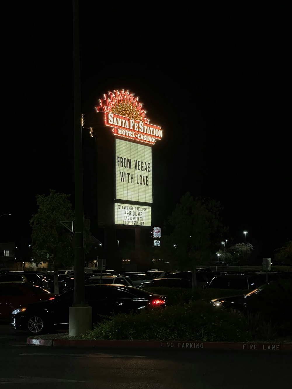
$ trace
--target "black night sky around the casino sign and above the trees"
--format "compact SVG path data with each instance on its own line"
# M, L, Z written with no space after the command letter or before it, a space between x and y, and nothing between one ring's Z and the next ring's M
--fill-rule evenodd
M234 1L167 12L80 3L82 112L125 89L164 130L152 150L153 224L190 191L220 201L224 238L244 242L247 230L260 259L273 258L292 230L284 32L271 23L274 10ZM17 245L30 243L37 194L54 189L74 204L72 2L18 1L7 21L0 215L12 215L0 218L0 240ZM102 240L86 129L83 168L84 213Z

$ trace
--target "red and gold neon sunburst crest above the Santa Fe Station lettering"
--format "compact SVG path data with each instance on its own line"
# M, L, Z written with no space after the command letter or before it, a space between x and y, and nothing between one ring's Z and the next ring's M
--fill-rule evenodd
M149 123L149 119L146 118L146 112L143 108L143 104L139 103L139 98L134 97L134 93L129 91L109 91L107 95L104 95L103 100L99 100L100 105L95 107L97 112L113 112L121 116L135 119L142 123Z

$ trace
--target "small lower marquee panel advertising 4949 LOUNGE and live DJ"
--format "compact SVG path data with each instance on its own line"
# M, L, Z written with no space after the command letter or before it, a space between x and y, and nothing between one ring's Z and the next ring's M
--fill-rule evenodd
M151 207L114 203L114 223L123 226L151 226Z

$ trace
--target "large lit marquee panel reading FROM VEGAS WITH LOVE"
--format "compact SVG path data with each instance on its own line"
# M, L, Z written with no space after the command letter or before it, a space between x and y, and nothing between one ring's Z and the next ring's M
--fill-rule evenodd
M116 198L152 203L150 146L116 139Z

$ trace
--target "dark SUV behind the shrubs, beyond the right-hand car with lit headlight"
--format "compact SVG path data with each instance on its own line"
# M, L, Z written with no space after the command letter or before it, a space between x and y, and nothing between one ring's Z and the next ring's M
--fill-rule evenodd
M213 277L208 288L253 290L261 285L262 282L256 275L221 274Z

